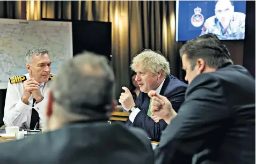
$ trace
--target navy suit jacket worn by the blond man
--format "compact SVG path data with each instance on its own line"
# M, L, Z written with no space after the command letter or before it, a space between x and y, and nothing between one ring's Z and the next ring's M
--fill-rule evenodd
M166 98L172 103L172 107L178 111L181 103L185 99L187 86L187 84L183 83L176 77L167 75L160 91L160 95L166 96ZM149 101L150 98L148 94L140 92L140 95L138 95L135 103L136 107L138 107L141 111L137 114L133 123L131 123L130 120L127 120L126 125L142 128L148 133L148 137L154 141L159 141L161 132L166 128L167 124L164 122L164 120L160 120L158 123L156 123L147 115Z

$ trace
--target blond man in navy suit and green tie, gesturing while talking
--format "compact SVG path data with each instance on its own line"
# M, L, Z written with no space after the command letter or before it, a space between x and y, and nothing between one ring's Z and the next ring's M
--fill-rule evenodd
M152 50L144 50L133 58L131 69L136 72L136 81L140 86L140 95L136 102L126 87L120 95L119 102L122 107L130 112L126 124L144 129L148 137L159 141L162 130L166 123L150 112L151 99L148 96L150 90L155 90L158 94L166 96L172 103L175 111L178 111L184 96L187 84L170 74L170 65L165 57Z

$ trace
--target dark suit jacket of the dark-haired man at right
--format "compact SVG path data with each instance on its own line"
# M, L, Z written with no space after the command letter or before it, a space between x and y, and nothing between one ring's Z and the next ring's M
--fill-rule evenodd
M255 79L228 65L189 85L163 131L156 163L255 163ZM193 160L192 160L193 159ZM193 161L193 162L192 162Z

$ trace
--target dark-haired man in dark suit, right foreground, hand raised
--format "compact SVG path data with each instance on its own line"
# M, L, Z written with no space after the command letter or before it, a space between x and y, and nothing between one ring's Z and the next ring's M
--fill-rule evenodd
M189 87L178 114L148 93L152 114L169 124L156 163L255 163L255 79L214 34L186 42L180 56Z

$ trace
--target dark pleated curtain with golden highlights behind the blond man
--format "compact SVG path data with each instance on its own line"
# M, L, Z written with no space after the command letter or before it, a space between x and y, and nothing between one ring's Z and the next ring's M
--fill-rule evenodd
M169 59L171 72L182 78L175 38L174 1L41 1L37 18L110 21L112 66L116 98L129 86L129 64L143 49L161 51ZM35 17L35 16L34 16Z

